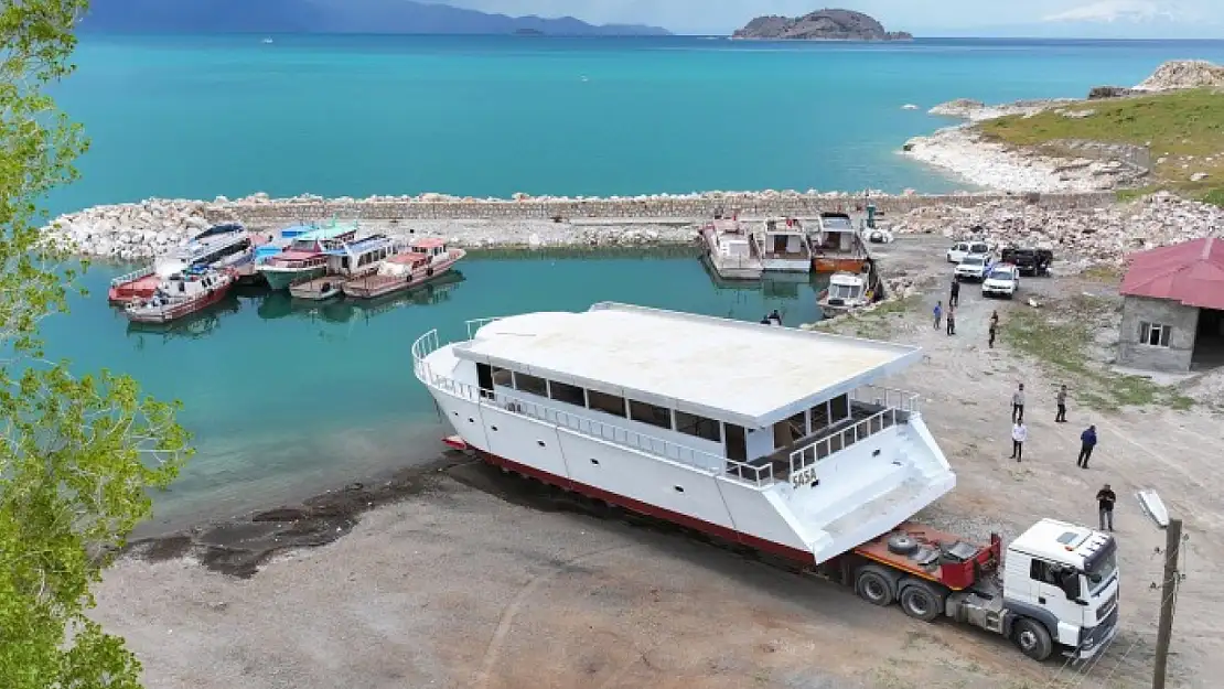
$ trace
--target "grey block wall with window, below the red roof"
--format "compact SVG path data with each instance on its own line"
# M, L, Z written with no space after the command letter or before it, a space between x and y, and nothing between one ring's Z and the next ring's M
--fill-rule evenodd
M1140 323L1159 323L1173 328L1169 346L1140 344ZM1118 363L1148 371L1190 371L1195 354L1198 310L1176 301L1127 296L1122 305L1122 324L1118 338Z

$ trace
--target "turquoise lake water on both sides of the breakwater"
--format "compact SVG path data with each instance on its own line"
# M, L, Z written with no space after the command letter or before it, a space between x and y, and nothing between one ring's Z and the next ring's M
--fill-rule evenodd
M946 191L896 151L952 98L1078 97L1224 42L696 38L86 37L59 87L93 140L54 212L267 191L629 195L800 188ZM906 103L922 110L907 111ZM49 354L181 399L198 454L159 524L225 516L438 450L409 345L468 318L619 300L734 318L816 317L815 289L717 289L695 258L468 259L435 301L379 313L236 297L185 333L130 333L94 296L47 322Z

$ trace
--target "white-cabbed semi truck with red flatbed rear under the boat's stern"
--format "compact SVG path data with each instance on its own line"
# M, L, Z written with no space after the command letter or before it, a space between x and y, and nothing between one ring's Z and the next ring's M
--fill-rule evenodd
M916 523L823 565L875 606L923 622L947 618L1010 639L1026 656L1097 656L1118 633L1118 543L1110 534L1042 519L1006 546L974 545Z

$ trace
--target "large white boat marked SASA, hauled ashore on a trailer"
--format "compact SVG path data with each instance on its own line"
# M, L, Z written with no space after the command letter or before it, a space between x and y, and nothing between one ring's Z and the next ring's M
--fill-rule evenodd
M919 348L619 304L468 333L412 344L465 447L733 542L823 563L956 483L917 395L873 384Z

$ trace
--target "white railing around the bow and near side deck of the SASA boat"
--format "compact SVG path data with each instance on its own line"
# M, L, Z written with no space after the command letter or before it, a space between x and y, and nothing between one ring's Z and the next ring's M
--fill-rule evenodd
M496 318L488 321L496 321ZM469 323L476 322L479 321ZM455 381L449 376L437 374L430 368L425 357L437 350L439 344L436 329L425 333L412 343L412 371L416 378L426 385L444 390L466 401L521 414L546 423L575 431L583 436L599 438L612 444L644 452L656 458L683 464L705 474L722 474L730 479L756 487L765 487L775 481L774 466L771 464L756 466L745 461L736 461L674 441L665 441L614 423L599 421L583 414L541 404L525 397L508 394L502 390L481 389L470 383Z

